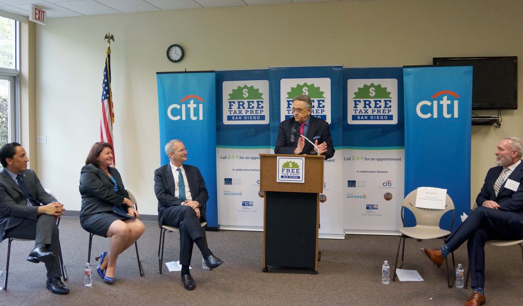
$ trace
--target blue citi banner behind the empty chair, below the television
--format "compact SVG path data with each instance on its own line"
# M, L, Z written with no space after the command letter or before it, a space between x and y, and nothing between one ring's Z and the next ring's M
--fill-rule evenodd
M472 67L405 67L403 80L405 195L418 187L447 189L456 207L454 231L471 203ZM411 214L405 217L407 226L415 225Z

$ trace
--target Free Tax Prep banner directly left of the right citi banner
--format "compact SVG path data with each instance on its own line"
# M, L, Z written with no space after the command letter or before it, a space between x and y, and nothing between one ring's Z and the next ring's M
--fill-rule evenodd
M404 190L403 69L346 68L343 76L345 232L396 232Z

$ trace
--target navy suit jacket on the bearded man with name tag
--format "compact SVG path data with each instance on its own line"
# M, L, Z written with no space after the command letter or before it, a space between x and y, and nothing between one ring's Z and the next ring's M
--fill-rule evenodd
M519 183L516 191L505 188L505 183L499 188L497 197L494 195L494 183L499 174L503 170L502 166L490 168L485 177L485 183L481 188L480 194L477 195L477 206L482 206L486 200L492 200L499 204L499 210L515 212L516 214L509 214L509 224L514 224L513 228L521 228L523 224L523 161L514 169L508 176L508 179L515 180Z

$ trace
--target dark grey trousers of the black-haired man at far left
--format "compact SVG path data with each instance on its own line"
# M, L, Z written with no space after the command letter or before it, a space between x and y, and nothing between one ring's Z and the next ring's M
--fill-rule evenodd
M22 223L10 228L5 232L6 238L34 239L35 245L43 243L47 245L47 251L53 252L54 259L46 263L47 279L59 278L62 276L60 270L60 238L56 217L49 214L41 214L37 221L24 219Z

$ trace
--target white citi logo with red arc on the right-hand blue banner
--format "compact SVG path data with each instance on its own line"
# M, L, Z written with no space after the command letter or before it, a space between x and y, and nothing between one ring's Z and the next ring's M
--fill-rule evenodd
M449 100L449 96L450 100ZM439 97L439 98L438 98ZM452 98L453 97L453 98ZM416 115L428 118L458 118L459 95L450 90L441 90L430 97L432 101L423 100L416 105Z

